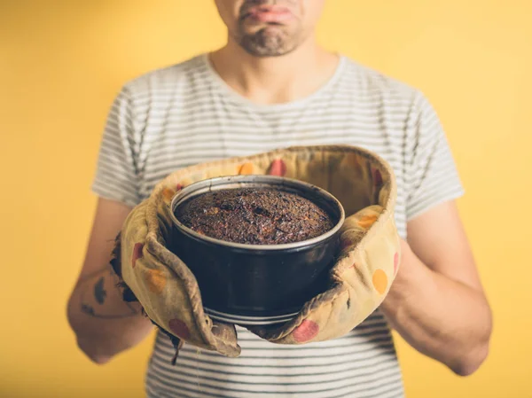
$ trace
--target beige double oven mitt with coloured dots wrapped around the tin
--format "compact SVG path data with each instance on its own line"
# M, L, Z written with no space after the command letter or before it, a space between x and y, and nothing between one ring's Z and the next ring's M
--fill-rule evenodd
M347 217L330 288L286 324L249 327L251 332L280 344L338 338L379 307L395 278L400 260L395 176L372 152L348 145L291 147L178 170L130 213L113 261L123 280L124 299L140 301L176 353L183 342L227 356L240 353L234 325L204 313L192 271L166 242L172 230L169 204L176 191L207 178L243 174L286 176L317 185L340 200Z

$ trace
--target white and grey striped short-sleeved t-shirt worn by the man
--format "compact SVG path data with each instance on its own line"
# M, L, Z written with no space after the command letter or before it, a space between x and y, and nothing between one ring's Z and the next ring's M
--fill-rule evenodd
M300 100L256 105L231 90L200 55L127 83L108 116L93 191L130 206L172 171L291 145L353 144L395 170L399 234L429 207L462 194L449 144L426 98L341 58ZM388 325L377 310L330 341L281 346L238 328L242 354L174 349L159 333L146 375L149 397L403 397Z

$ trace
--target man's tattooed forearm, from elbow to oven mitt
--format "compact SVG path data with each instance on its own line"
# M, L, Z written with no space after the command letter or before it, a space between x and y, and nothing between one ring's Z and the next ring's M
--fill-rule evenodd
M127 303L110 266L85 277L68 301L68 321L78 346L96 363L137 345L153 330L137 303Z

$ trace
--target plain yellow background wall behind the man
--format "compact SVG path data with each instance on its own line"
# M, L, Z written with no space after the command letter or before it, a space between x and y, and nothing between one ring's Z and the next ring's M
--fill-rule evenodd
M409 398L532 397L531 4L326 2L322 43L438 110L495 313L489 360L470 378L398 339ZM0 396L144 396L152 339L98 367L66 323L101 131L123 82L223 41L212 0L0 1Z

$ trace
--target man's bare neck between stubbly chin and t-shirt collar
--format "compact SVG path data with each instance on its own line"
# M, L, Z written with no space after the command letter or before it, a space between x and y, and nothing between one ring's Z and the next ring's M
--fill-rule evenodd
M210 54L215 71L232 90L257 104L309 96L334 74L339 59L313 40L280 57L254 57L230 42Z

